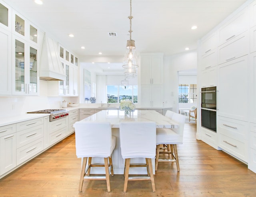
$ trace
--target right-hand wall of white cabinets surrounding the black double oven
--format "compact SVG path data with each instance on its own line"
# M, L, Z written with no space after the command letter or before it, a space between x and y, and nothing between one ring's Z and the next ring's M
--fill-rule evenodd
M212 45L215 42L215 47L206 50L205 41ZM199 43L200 87L210 86L205 70L212 63L217 71L217 133L212 135L213 147L256 172L256 0L243 4ZM202 140L212 146L210 137L203 137L205 129L200 128L200 132Z

